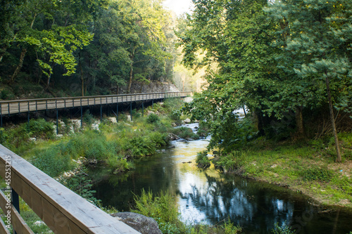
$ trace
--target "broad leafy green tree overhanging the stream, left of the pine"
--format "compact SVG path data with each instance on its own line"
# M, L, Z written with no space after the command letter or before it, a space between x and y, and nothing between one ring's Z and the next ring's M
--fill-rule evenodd
M189 26L180 35L184 63L190 66L218 64L209 72L208 86L196 95L189 111L211 124L212 141L231 148L237 140L234 110L246 105L258 117L263 131L267 115L272 115L271 96L279 90L275 48L271 43L275 25L267 20L266 1L195 1ZM205 57L196 63L197 51ZM277 112L277 115L281 114ZM274 112L274 114L276 114Z

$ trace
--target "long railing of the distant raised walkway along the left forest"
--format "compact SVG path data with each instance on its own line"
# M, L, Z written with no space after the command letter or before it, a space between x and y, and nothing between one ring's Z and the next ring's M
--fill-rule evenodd
M1 100L0 115L11 115L38 110L53 110L61 108L77 108L90 105L106 105L112 103L127 103L140 100L155 100L175 98L189 95L189 92L164 93L132 93L105 96L80 96L65 98L37 98L26 100Z

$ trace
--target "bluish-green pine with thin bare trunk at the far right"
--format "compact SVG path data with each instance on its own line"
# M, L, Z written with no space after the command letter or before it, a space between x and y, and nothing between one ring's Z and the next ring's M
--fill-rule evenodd
M337 162L341 162L341 152L333 107L351 104L351 6L351 1L344 0L293 0L275 1L266 10L287 22L280 31L288 32L284 56L301 57L292 60L289 69L298 74L301 83L314 87L320 102L329 104Z

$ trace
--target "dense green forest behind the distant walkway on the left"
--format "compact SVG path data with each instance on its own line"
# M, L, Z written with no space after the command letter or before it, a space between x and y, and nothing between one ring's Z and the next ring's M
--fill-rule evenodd
M177 19L152 0L1 1L1 99L172 82Z

